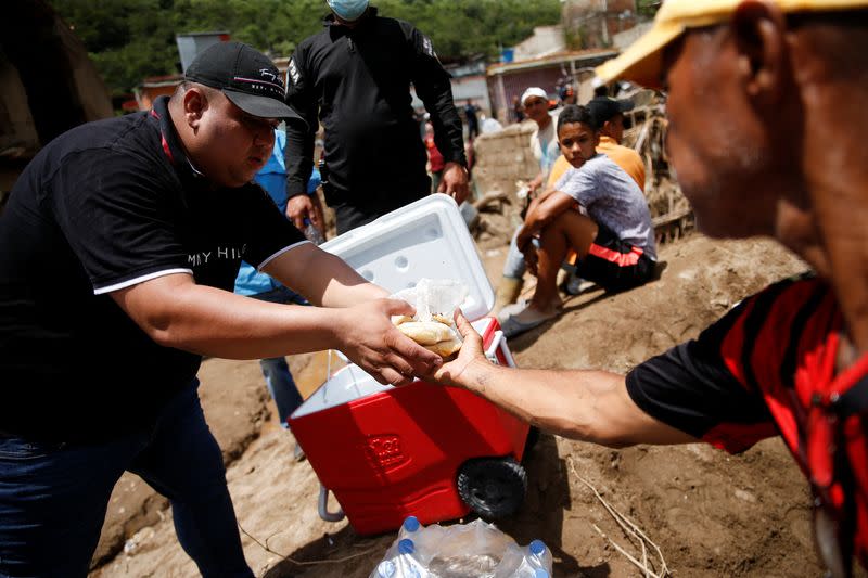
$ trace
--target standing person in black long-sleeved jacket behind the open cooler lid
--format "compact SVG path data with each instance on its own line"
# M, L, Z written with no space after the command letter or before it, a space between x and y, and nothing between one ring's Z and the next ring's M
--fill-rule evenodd
M329 0L329 7L324 29L302 41L286 70L286 103L308 124L286 130L286 214L296 227L305 219L321 226L305 194L317 120L326 131L323 191L339 234L429 194L410 85L431 114L446 160L437 192L463 202L461 118L431 40L407 22L379 16L363 0Z

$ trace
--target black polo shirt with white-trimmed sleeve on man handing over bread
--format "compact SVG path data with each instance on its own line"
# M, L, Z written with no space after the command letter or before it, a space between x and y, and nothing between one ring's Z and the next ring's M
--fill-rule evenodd
M0 216L0 435L78 441L153 422L201 357L155 344L110 293L173 272L232 291L304 242L254 183L214 189L159 99L49 143Z

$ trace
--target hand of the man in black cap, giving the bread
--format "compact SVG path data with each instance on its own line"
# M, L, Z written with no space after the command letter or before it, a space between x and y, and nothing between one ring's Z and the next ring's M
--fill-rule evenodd
M376 299L341 310L340 349L382 384L404 385L443 364L441 356L404 335L392 316L412 316L406 301Z

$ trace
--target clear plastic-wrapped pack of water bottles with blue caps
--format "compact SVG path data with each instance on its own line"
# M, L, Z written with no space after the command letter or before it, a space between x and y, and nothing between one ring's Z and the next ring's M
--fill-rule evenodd
M551 565L541 541L521 547L494 524L422 526L410 516L370 578L549 578Z

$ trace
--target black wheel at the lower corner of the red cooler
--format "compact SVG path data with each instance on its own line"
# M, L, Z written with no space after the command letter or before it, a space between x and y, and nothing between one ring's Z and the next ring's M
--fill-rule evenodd
M468 460L458 471L458 493L470 509L487 519L514 514L527 491L527 473L512 458Z

